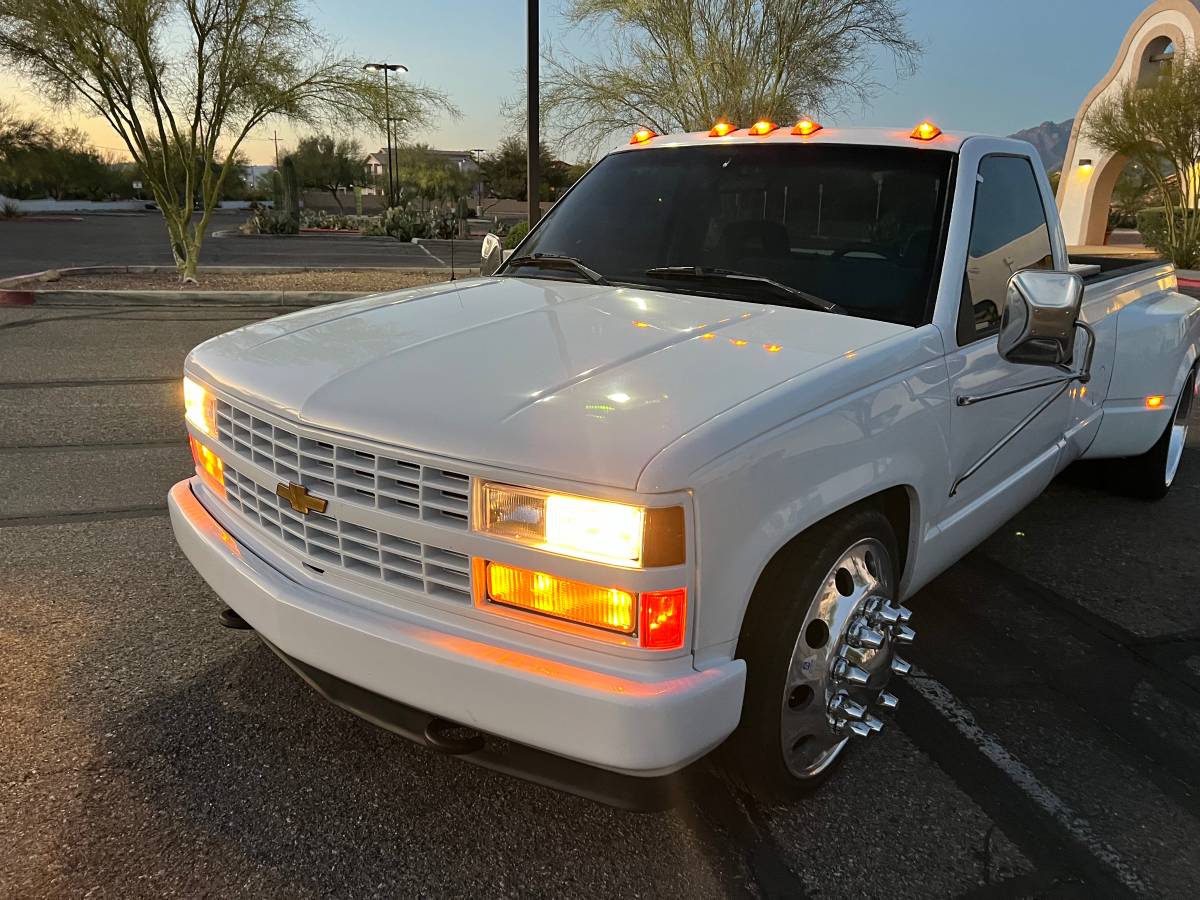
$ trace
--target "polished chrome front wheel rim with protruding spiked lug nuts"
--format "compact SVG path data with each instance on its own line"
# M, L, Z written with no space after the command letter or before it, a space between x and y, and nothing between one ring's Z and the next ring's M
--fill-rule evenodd
M908 664L912 613L893 601L893 566L883 545L859 541L829 570L800 629L784 688L780 737L788 770L811 778L854 737L883 728L899 704L886 689Z

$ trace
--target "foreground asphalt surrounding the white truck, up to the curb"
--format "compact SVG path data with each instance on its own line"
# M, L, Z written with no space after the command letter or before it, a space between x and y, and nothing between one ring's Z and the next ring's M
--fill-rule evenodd
M178 378L278 310L0 308L0 896L1194 896L1200 428L1072 472L912 600L900 710L762 808L630 814L319 701L176 550Z

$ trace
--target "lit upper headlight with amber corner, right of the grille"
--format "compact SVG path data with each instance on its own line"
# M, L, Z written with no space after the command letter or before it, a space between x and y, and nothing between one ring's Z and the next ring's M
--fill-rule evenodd
M683 506L611 500L485 484L480 530L540 550L631 566L684 560Z

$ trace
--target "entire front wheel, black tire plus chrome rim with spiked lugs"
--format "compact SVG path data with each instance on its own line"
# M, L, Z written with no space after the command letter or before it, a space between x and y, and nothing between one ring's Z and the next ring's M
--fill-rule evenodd
M760 797L815 790L896 707L886 688L908 664L895 648L914 637L895 601L898 559L887 517L862 509L798 538L760 578L738 642L746 690L727 750Z

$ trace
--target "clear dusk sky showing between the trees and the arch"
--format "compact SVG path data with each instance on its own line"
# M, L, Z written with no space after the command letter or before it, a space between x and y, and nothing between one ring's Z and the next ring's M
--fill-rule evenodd
M1007 134L1045 120L1073 116L1087 90L1112 62L1121 38L1147 0L908 0L910 32L923 44L916 76L896 80L881 60L877 79L887 88L875 101L827 125L906 126L930 118L943 127ZM524 59L524 4L521 0L426 0L354 4L314 2L319 29L347 54L403 62L410 77L450 95L463 115L439 121L412 139L444 149L493 148L512 131L502 100L517 90ZM559 0L542 2L542 37L586 54L589 36L570 34L558 16ZM36 96L0 72L0 96L16 96L31 112ZM100 120L55 115L84 127L96 144L118 149L119 139ZM278 127L281 146L294 140ZM246 145L251 162L274 158L271 128ZM382 136L361 133L365 149Z

